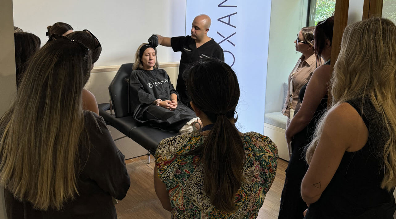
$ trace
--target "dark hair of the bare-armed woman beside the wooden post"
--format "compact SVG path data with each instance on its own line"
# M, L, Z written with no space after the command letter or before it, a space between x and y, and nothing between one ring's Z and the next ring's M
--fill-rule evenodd
M333 40L333 24L334 17L331 16L324 21L318 22L315 28L315 55L316 55L316 65L319 66L320 55L326 46L326 40L331 42Z

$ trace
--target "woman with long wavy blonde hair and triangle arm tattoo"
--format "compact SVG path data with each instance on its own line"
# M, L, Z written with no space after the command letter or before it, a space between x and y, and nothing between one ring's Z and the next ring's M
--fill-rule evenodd
M396 186L396 26L345 28L331 77L331 108L307 149L306 218L391 219Z

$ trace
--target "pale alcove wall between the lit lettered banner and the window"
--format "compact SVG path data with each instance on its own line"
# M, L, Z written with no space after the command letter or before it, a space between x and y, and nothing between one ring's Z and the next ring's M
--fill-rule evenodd
M271 6L265 113L282 110L283 82L301 53L295 39L307 22L307 0L274 0Z

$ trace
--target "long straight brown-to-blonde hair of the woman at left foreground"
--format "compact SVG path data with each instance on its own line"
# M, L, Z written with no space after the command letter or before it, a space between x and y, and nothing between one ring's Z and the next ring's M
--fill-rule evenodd
M91 64L81 43L46 43L0 119L0 184L35 209L60 210L78 194L78 146L85 136L82 89Z

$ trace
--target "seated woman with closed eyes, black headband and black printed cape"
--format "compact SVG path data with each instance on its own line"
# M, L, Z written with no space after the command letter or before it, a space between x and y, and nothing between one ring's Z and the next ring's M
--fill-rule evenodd
M194 121L201 122L194 111L178 102L179 94L168 74L158 66L154 47L148 43L140 45L129 78L130 112L145 125L173 132L191 132L192 126L198 125Z

